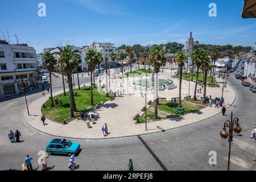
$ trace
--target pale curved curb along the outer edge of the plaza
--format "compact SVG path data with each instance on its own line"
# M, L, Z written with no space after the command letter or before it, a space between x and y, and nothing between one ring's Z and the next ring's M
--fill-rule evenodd
M232 86L230 86L230 89L233 90ZM233 90L233 92L234 92L234 90ZM234 102L236 101L237 94L236 94L236 92L234 92L234 93L235 93L234 100L233 100L232 104L230 104L230 105L227 107L227 110L228 110L231 106L233 106ZM113 137L113 138L73 138L73 137L63 137L63 136L48 134L48 133L45 133L45 132L43 132L43 131L40 131L40 130L35 129L34 127L32 127L30 124L28 124L28 123L26 122L26 119L24 118L24 113L25 113L26 110L27 110L27 109L25 108L24 111L23 111L22 118L23 118L23 121L24 121L28 126L30 126L32 129L38 131L39 133L42 133L42 134L45 134L45 135L49 135L49 136L52 136L52 137L58 137L58 138L68 138L68 139L77 139L77 140L108 140L108 139L121 139L121 138L130 138L130 137L146 136L146 135L158 134L158 133L162 133L162 132L163 132L163 131L161 130L161 131L155 131L155 132L148 133L148 134L127 135L127 136L123 136L123 137ZM186 127L186 126L195 125L196 123L204 122L204 121L207 121L207 120L210 119L210 118L216 117L216 115L221 114L221 113L222 113L222 112L220 111L219 113L214 114L214 115L212 115L212 116L209 117L209 118L201 119L200 121L196 121L196 122L194 122L194 123L190 123L190 124L183 125L183 126L178 126L178 127L173 128L173 129L167 129L167 130L164 130L164 131L170 131L170 130L174 130L174 129L180 129L181 127Z

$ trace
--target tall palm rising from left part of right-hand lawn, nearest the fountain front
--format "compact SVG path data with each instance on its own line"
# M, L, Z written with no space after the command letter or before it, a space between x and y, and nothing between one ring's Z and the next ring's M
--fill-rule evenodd
M154 66L154 72L156 75L155 79L155 112L154 112L154 118L158 118L158 73L160 70L160 67L166 63L166 53L163 51L161 46L154 47L150 53L149 53L151 59L150 59L150 65Z

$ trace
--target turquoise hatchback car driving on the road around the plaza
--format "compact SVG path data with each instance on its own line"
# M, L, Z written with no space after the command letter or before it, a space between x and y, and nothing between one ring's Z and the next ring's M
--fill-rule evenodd
M76 154L79 151L79 149L79 143L71 142L71 140L65 138L52 139L51 142L49 142L46 146L46 152L48 152L49 155L66 154L68 156L71 156L72 154Z

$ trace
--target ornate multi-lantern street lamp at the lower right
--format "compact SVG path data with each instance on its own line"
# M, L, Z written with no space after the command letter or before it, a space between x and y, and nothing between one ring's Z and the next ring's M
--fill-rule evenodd
M231 142L233 141L233 131L235 133L240 133L242 131L242 128L240 124L238 123L239 119L234 118L233 119L233 111L231 113L231 120L227 120L224 123L224 128L222 131L220 131L220 135L222 138L228 138L229 137L229 159L228 159L228 171L229 171L229 164L230 164L230 150L231 150ZM229 132L226 131L226 128L229 128Z

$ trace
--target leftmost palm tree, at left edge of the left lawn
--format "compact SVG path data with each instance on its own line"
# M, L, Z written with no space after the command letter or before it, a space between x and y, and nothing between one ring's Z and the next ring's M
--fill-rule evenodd
M43 55L44 57L44 67L49 71L50 78L50 93L51 93L51 107L53 107L53 98L52 98L52 71L54 70L54 66L57 64L57 60L53 57L53 54L50 52L46 52Z

